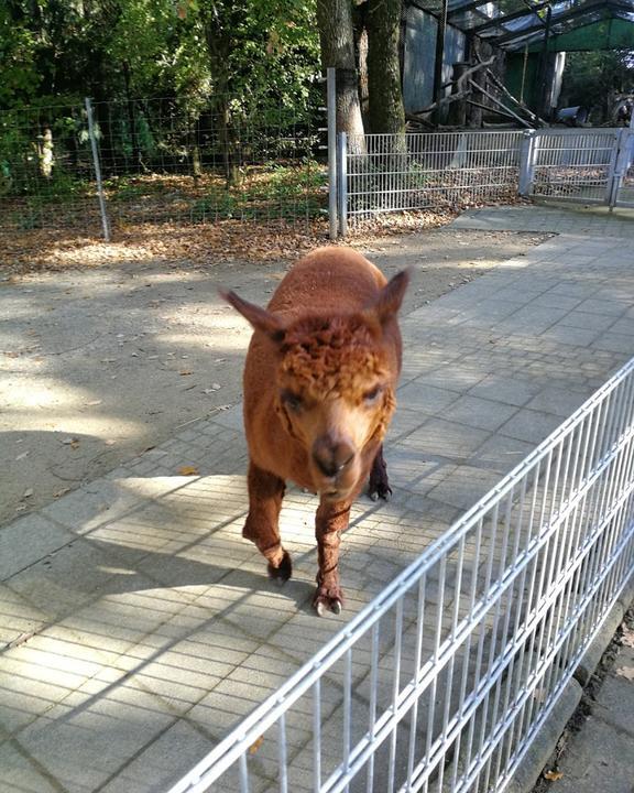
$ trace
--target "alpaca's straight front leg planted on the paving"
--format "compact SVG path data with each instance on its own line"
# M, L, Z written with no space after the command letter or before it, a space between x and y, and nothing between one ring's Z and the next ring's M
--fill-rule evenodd
M317 509L315 535L319 572L313 606L319 617L328 610L340 613L343 606L343 593L339 586L339 544L341 532L348 529L351 506L350 501L331 503L321 500Z

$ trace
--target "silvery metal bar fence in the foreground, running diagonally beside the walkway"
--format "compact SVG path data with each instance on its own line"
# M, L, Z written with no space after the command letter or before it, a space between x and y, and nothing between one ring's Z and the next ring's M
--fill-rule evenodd
M503 791L634 573L634 359L171 793Z

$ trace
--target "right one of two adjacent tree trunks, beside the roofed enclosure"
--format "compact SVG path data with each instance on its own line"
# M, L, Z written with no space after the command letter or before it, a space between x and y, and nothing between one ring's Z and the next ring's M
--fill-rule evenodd
M402 134L405 132L398 57L402 0L368 0L367 6L370 132Z

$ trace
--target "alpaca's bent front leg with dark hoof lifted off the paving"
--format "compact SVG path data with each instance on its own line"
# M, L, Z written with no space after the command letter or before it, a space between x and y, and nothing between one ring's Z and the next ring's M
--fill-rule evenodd
M286 582L291 578L293 566L291 556L280 541L280 510L284 498L284 480L274 474L249 463L249 514L242 536L255 543L260 553L269 562L269 575Z

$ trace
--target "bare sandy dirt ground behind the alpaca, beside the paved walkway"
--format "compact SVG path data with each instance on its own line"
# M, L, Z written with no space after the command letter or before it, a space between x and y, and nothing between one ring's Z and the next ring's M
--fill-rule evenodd
M413 268L407 313L543 239L445 226L356 247L387 275ZM250 329L217 287L264 304L289 263L155 247L90 267L77 249L69 268L17 261L0 253L0 525L238 402Z

